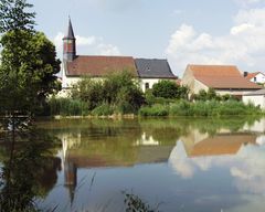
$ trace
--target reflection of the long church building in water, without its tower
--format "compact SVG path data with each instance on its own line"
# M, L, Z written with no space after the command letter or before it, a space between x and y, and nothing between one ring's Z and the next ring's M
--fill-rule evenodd
M173 145L159 145L152 136L145 132L140 139L131 140L130 146L123 147L123 152L113 152L112 142L91 142L82 146L81 136L74 138L71 136L60 136L62 139L64 166L76 168L95 167L127 167L138 163L162 162L167 161ZM108 147L109 145L109 147ZM127 152L124 156L124 152ZM121 153L121 156L117 155ZM71 166L70 166L71 165ZM71 169L72 170L72 169ZM71 176L71 174L68 174ZM66 178L65 178L66 179ZM73 179L72 177L68 179ZM70 180L72 181L72 180ZM66 182L67 184L67 182Z

